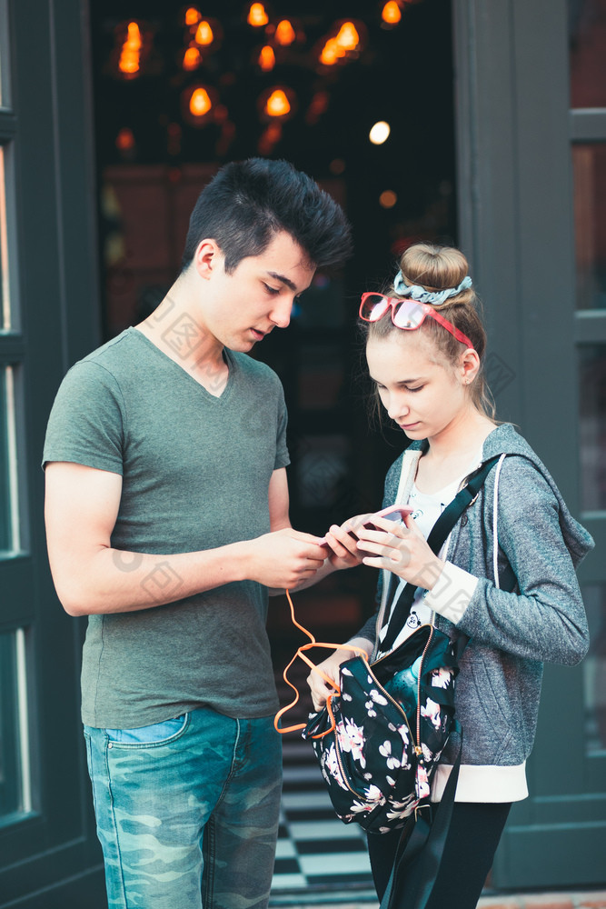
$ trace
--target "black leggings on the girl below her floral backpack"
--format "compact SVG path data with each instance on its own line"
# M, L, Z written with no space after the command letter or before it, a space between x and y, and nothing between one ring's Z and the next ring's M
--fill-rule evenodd
M512 804L455 802L442 863L427 909L475 909L492 868ZM374 886L379 900L392 874L400 830L391 834L368 834ZM397 899L397 894L394 894Z

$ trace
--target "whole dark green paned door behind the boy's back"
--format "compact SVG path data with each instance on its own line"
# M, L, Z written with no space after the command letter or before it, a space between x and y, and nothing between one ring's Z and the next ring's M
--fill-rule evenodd
M56 388L98 338L85 20L81 0L0 0L0 906L103 905L83 629L50 577L40 469Z

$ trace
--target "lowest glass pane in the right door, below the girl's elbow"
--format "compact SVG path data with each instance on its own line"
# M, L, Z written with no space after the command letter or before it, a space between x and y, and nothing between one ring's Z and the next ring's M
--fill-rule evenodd
M606 752L606 585L583 587L591 645L583 661L588 754Z

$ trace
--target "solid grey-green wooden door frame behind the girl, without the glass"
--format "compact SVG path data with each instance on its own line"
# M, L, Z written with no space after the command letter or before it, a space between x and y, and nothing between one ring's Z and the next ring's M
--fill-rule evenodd
M571 177L571 141L596 118L569 110L567 5L453 0L453 23L460 243L486 310L498 415L520 427L594 535L580 580L603 584L606 522L580 510L575 342L605 340L606 318L596 311L587 329L575 310ZM582 666L547 665L531 795L512 808L496 886L603 882L606 794L595 789L606 759L583 754L583 741Z

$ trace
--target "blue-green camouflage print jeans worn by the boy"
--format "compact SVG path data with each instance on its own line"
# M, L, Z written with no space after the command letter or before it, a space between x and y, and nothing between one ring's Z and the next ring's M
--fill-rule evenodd
M264 909L282 784L273 717L203 707L84 726L109 909Z

